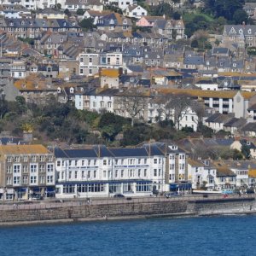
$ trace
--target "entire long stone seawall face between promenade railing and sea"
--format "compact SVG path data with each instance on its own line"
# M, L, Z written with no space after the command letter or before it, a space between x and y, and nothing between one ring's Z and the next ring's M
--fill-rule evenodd
M161 216L203 216L256 213L254 198L204 201L157 201L83 205L40 209L3 209L0 225L47 222L73 222L113 218Z

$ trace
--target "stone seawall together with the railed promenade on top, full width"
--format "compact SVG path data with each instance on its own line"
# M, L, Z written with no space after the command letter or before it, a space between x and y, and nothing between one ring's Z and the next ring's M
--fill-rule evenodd
M254 213L256 213L254 195L24 201L2 203L0 225Z

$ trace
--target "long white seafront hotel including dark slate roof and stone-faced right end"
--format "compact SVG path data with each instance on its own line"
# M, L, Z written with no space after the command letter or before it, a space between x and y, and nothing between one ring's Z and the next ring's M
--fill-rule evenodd
M147 196L170 191L170 183L173 188L177 184L183 188L186 154L172 147L147 143L140 148L55 148L55 196Z

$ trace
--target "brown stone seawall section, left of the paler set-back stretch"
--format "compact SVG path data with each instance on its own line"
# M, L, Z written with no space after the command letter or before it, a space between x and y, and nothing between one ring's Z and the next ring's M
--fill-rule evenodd
M0 223L20 221L43 221L72 218L115 218L128 216L165 215L182 213L187 210L186 201L167 201L154 203L127 203L86 205L79 207L58 207L51 209L14 209L3 210L0 214Z

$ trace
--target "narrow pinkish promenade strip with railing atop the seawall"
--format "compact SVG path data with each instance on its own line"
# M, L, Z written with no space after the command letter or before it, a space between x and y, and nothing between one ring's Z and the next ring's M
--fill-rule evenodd
M110 204L131 204L131 203L154 203L161 201L214 201L221 200L226 201L229 199L255 199L255 195L183 195L183 196L172 196L166 198L165 196L158 197L130 197L128 198L83 198L83 199L61 199L52 201L2 201L0 202L0 211L6 210L36 210L36 209L51 209L58 207L82 207L82 206L96 206L96 205L110 205Z

